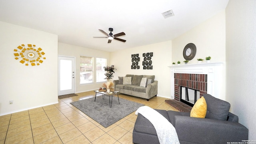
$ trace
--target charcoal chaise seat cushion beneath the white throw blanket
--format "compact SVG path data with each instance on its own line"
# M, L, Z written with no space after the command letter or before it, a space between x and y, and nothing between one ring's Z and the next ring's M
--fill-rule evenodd
M156 110L156 111L159 112L160 114L162 114L169 121L169 117L168 117L166 110ZM138 114L137 120L134 125L134 129L137 132L145 132L148 134L156 135L156 129L153 126L153 124L147 118L142 116L142 114L140 114L140 113Z

